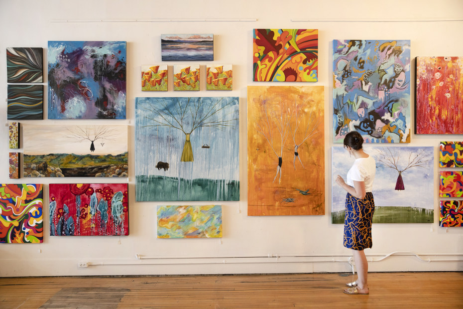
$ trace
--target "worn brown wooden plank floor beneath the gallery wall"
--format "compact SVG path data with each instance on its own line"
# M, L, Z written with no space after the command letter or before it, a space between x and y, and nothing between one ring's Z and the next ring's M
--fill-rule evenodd
M0 308L463 308L463 273L0 278Z

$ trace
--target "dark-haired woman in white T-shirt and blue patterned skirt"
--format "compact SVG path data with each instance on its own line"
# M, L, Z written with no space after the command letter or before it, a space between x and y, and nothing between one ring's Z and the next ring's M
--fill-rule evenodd
M358 132L349 132L344 138L344 148L355 157L355 162L347 172L347 183L338 175L336 183L347 191L346 218L344 221L344 246L352 249L357 280L347 284L346 294L368 294L368 262L366 248L371 248L371 221L374 201L373 186L376 163L371 155L362 149L363 138Z

